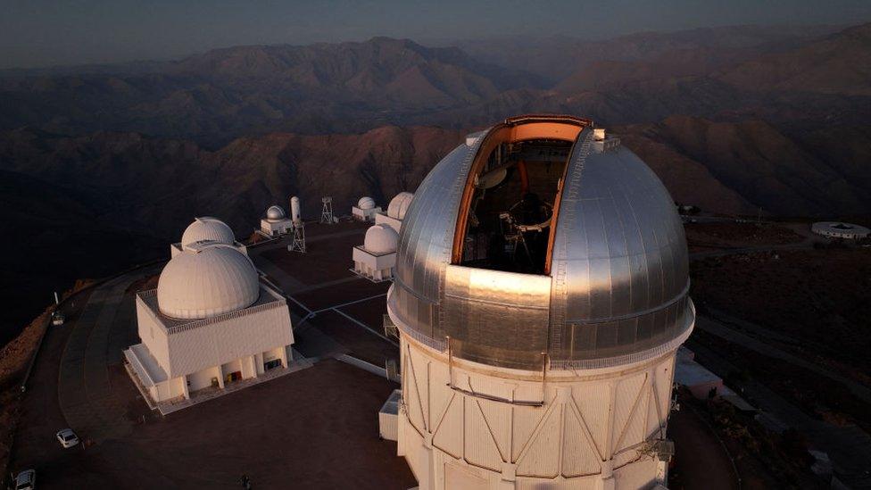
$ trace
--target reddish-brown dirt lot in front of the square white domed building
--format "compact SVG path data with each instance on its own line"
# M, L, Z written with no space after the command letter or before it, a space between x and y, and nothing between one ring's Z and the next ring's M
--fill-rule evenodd
M415 485L408 465L395 443L377 438L377 411L395 387L320 361L166 418L146 416L120 439L63 450L46 427L22 451L42 455L44 488L233 488L247 474L256 488L404 489ZM144 407L136 395L131 387L131 403ZM25 417L53 419L36 406ZM20 456L18 466L28 457Z

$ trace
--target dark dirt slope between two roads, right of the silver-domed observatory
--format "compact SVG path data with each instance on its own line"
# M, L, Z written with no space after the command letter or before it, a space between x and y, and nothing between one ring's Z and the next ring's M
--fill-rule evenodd
M871 249L781 250L691 264L693 301L793 339L787 348L871 384Z

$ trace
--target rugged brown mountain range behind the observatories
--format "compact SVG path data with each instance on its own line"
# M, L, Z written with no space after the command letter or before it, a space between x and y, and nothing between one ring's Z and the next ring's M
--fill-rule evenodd
M289 195L310 215L327 194L337 212L386 203L469 130L523 112L593 118L707 211L871 209L871 24L459 46L376 37L0 71L0 224L17 237L0 288L24 312L0 322L165 254L196 215L246 237Z

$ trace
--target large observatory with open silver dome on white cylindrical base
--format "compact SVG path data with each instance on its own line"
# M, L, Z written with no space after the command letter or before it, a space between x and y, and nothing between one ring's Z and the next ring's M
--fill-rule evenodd
M666 188L592 121L469 135L415 193L387 296L419 488L664 485L687 263Z

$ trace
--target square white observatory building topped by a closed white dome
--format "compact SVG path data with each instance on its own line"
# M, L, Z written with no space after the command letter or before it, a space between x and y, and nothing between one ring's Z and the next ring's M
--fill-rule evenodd
M142 343L124 351L152 405L222 390L293 359L286 299L260 282L251 259L217 240L182 243L157 288L137 294Z

